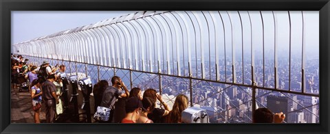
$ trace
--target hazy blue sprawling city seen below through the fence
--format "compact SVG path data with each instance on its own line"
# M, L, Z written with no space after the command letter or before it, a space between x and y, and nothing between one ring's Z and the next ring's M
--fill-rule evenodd
M197 61L200 62L200 61ZM224 62L221 59L219 63ZM246 58L244 64L244 83L252 84L251 79L251 64ZM318 94L319 93L319 65L318 58L308 59L305 66L305 92ZM227 62L227 81L232 82L231 63ZM236 70L242 70L242 62L236 62ZM289 90L289 68L288 61L278 60L278 89ZM301 92L301 59L292 59L291 68L291 91ZM300 66L298 66L300 64ZM214 63L211 62L211 65ZM229 66L230 65L230 66ZM263 86L263 61L262 59L255 60L255 77L256 83ZM79 68L79 67L77 67ZM206 65L206 68L208 66ZM215 78L215 67L211 66L210 76ZM192 68L194 70L195 68ZM186 70L187 68L181 68ZM174 70L172 70L174 71ZM199 70L200 71L200 70ZM220 65L221 81L225 77L225 68ZM97 70L92 70L90 74L97 73ZM111 79L114 75L112 69L100 69L102 74L101 79ZM108 74L108 75L104 75ZM124 83L129 87L130 78L128 70L116 71L116 75L122 77ZM95 76L95 75L94 75ZM201 76L198 76L201 77ZM236 72L236 83L242 83L242 71ZM94 79L94 83L98 78ZM146 72L133 72L132 87L139 87L142 90L154 88L159 92L158 75L148 74ZM265 60L265 87L274 88L274 59ZM194 106L206 109L212 123L251 123L252 122L252 88L244 86L221 84L217 82L192 80L192 103ZM189 79L180 77L162 76L162 94L167 97L169 103L174 103L177 94L189 93ZM190 98L190 97L189 97ZM165 98L166 99L166 98ZM258 107L267 107L274 113L283 112L287 115L285 122L287 123L318 123L319 122L319 99L314 96L303 96L297 94L287 94L283 92L271 92L269 90L258 89L256 92L256 103ZM173 105L173 104L171 104Z

